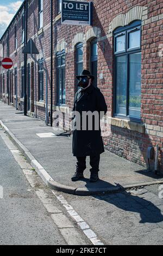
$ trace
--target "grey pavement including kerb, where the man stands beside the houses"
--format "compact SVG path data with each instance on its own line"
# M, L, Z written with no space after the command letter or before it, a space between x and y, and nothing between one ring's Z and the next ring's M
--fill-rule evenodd
M0 102L0 123L36 172L54 190L81 196L163 183L163 175L156 176L108 151L101 155L98 182L89 182L89 159L85 179L72 182L76 158L72 155L72 137L68 133L46 126L42 120L24 117L22 112L3 102ZM43 138L39 137L42 133L46 133ZM47 137L47 133L52 136Z

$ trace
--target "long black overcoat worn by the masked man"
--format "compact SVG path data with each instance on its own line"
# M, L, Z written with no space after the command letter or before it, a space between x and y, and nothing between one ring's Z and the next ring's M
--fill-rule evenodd
M73 119L73 155L74 156L90 156L95 154L102 154L104 152L103 139L101 136L101 127L99 124L99 129L95 123L97 119L93 119L92 130L89 130L88 118L86 129L83 130L82 123L82 113L89 112L92 113L98 111L98 113L106 114L107 106L101 91L94 86L90 86L86 90L79 89L76 93L74 100L74 113L80 113L80 125L77 126L77 114L74 115ZM97 113L97 112L96 112ZM99 116L100 117L100 116ZM96 121L95 121L96 120ZM98 120L100 123L100 118ZM80 130L77 127L80 126ZM95 129L96 127L96 129Z

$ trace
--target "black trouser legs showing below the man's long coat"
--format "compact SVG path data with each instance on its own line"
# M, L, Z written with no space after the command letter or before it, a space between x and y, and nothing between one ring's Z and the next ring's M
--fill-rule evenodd
M83 173L86 169L86 156L79 157L77 156L77 172ZM99 172L99 161L100 155L91 155L90 156L90 169L91 173L98 173Z

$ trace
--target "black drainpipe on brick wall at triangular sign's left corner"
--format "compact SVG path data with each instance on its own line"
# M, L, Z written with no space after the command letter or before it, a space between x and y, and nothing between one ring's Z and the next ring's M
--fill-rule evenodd
M24 3L24 46L27 45L28 36L28 0ZM27 115L27 54L24 54L24 115Z

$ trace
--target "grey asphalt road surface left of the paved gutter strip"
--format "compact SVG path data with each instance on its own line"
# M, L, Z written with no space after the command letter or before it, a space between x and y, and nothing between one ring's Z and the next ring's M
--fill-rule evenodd
M65 245L0 136L0 245Z

